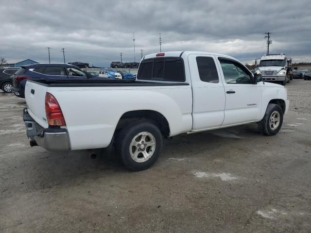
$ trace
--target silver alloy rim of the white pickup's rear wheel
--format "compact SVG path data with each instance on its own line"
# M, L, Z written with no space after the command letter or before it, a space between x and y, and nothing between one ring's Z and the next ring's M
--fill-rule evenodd
M155 137L149 132L140 132L136 134L130 144L131 158L138 163L149 160L155 152Z

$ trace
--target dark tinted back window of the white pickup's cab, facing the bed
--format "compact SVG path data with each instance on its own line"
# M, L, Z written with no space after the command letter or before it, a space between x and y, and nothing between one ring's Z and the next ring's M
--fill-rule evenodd
M184 82L184 61L180 57L150 58L142 61L138 68L138 80Z

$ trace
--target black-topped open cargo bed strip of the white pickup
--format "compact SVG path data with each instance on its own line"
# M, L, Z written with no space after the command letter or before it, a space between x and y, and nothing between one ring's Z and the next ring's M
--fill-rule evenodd
M86 80L86 79L38 79L27 82L38 83L48 87L90 87L90 86L184 86L182 82L146 82L137 80Z

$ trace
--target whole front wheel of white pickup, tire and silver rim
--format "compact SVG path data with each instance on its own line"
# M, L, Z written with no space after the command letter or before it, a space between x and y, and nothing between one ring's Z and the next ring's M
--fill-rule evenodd
M283 110L275 103L269 103L261 121L259 121L259 129L264 135L276 135L282 127Z

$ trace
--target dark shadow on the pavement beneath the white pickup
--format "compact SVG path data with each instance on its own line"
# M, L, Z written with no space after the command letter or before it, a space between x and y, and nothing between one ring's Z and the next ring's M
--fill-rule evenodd
M256 124L252 124L164 139L163 151L158 161L153 167L142 172L149 173L165 169L167 161L172 157L197 159L200 156L205 156L205 160L208 161L215 159L215 156L221 156L226 159L226 153L232 154L232 150L241 148L237 145L241 144L241 140L243 143L250 144L254 143L254 138L257 136L261 136L261 134L259 134ZM220 152L224 143L232 145L230 151ZM122 166L119 156L114 150L109 156L98 155L95 159L90 159L90 154L86 150L55 153L36 147L28 152L33 150L36 151L25 158L27 162L20 161L20 163L26 163L24 169L32 171L29 174L32 176L30 178L31 185L37 188L55 184L62 185L63 183L72 185L74 184L72 180L86 182L87 180L94 181L103 177L111 178L132 173Z

